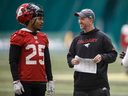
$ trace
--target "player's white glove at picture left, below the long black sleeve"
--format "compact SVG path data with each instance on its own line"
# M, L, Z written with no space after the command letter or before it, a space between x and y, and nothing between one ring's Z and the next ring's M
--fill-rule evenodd
M14 84L14 92L16 94L21 95L22 92L25 92L24 88L23 88L23 85L21 84L20 81L14 81L13 84Z

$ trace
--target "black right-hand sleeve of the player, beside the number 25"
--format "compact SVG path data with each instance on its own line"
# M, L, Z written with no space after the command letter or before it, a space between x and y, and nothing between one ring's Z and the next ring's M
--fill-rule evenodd
M51 60L48 47L44 51L44 61L45 61L45 70L47 74L48 81L53 80L52 69L51 69Z

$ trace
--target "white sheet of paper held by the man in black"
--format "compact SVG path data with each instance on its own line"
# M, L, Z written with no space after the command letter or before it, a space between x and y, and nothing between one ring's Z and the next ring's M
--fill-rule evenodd
M96 74L97 64L93 62L93 59L80 58L77 55L75 59L79 60L79 64L74 65L74 71Z

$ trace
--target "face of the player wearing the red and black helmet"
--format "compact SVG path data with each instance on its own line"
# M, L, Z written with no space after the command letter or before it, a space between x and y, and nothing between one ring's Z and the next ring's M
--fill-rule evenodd
M38 30L38 31L41 30L41 28L43 27L43 22L44 22L43 19L44 19L43 17L37 17L37 20L36 20L35 24L33 25L33 28L35 30Z

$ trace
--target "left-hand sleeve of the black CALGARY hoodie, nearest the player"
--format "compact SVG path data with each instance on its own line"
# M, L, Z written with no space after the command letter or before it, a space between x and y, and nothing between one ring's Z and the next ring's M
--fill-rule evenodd
M70 68L74 67L72 64L71 64L71 60L75 57L76 55L76 51L75 51L75 39L73 39L71 45L70 45L70 48L69 48L69 52L67 54L67 62L68 62L68 66Z

